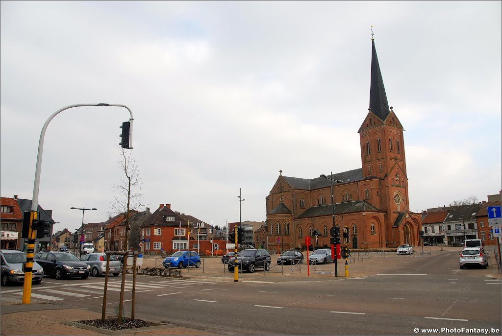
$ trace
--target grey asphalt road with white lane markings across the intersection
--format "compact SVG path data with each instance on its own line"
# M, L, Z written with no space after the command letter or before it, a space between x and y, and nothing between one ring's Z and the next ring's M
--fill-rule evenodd
M338 277L332 263L308 276L302 264L293 273L285 266L284 275L282 268L239 273L237 282L218 259L205 259L203 271L184 270L183 279L138 276L136 317L222 334L500 334L502 286L491 277L494 265L460 270L459 251L373 256L349 265L348 278L339 260ZM127 279L126 316L132 276ZM109 312L118 305L119 282L110 278ZM46 277L33 286L32 298L101 311L103 283L103 277ZM19 297L20 290L3 287L2 295ZM422 330L432 328L439 330Z

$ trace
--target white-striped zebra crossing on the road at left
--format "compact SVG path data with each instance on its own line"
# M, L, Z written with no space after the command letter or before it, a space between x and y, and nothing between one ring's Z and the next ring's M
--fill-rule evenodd
M158 281L146 281L146 282L136 282L136 292L139 291L152 291L161 290L163 288L188 288L193 286L201 286L206 284L215 284L216 282L210 281L198 281L198 280L182 280L182 279L172 279L172 280L158 280ZM120 281L108 282L107 292L120 292L121 283ZM124 283L124 291L131 293L133 290L133 282L127 280ZM37 299L43 299L48 301L61 301L65 299L91 299L103 297L104 282L92 282L92 283L82 283L79 285L62 285L62 286L50 286L50 288L32 287L31 296ZM19 292L13 292L15 295L23 295L22 290ZM94 295L94 296L93 296ZM100 296L96 296L100 295Z

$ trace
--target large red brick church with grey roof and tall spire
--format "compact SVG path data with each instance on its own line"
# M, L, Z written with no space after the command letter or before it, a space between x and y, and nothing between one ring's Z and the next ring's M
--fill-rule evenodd
M281 249L304 248L311 236L314 247L328 247L333 208L335 225L349 228L349 248L418 246L421 215L410 212L404 129L389 107L373 38L371 48L369 108L358 130L362 167L313 179L280 171L256 246L275 248L279 241Z

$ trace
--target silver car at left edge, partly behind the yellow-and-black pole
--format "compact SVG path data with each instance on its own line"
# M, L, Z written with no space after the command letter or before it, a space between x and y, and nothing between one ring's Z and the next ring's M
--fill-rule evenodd
M26 263L26 253L18 250L0 250L0 273L2 286L9 283L25 282L23 264ZM44 278L44 269L38 263L33 263L32 283L40 283Z

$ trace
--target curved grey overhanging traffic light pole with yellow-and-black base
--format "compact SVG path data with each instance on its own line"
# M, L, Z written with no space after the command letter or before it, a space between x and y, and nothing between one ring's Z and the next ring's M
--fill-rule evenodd
M37 165L35 167L35 183L33 185L33 198L32 198L32 215L30 219L30 238L28 239L28 249L27 249L27 254L26 254L26 265L25 269L32 268L33 269L33 254L35 252L35 239L33 237L33 230L31 228L31 225L33 223L33 220L37 219L37 211L38 211L38 194L39 194L39 189L40 189L40 172L42 170L42 153L44 151L44 138L45 138L45 131L47 130L47 126L49 126L49 122L58 115L59 113L63 112L64 110L67 110L72 107L84 107L84 106L116 106L116 107L125 107L129 110L129 113L131 114L131 121L133 119L133 112L129 107L126 105L121 105L121 104L106 104L106 103L98 103L98 104L73 104L73 105L68 105L63 108L60 108L51 116L47 119L47 121L44 123L44 126L42 127L42 131L40 132L40 140L38 142L38 153L37 153ZM131 136L130 136L130 146L131 146L131 138L132 138L132 133L133 133L133 124L131 123ZM31 262L29 262L31 256ZM28 277L29 276L29 277ZM32 272L25 271L25 281L24 281L24 286L23 286L23 304L30 304L30 298L31 298L31 277L32 277Z

